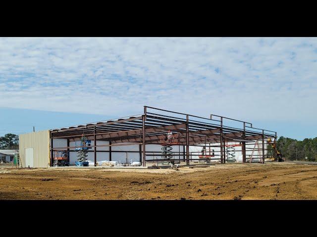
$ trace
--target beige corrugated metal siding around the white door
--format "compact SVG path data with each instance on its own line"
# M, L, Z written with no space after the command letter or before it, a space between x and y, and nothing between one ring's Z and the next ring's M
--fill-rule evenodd
M19 135L19 153L25 167L25 149L33 148L34 167L49 167L50 164L50 130L30 132Z

